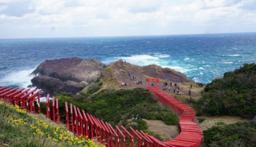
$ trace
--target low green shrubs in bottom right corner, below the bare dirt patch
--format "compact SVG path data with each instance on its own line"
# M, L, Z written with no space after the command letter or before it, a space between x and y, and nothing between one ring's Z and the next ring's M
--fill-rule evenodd
M256 122L220 124L203 133L209 147L256 147Z

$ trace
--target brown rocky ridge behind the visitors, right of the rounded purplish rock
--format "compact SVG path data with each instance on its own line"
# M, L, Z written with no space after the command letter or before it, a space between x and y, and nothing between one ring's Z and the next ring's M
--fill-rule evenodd
M128 87L141 87L147 88L147 77L161 78L162 80L183 83L183 82L194 82L192 79L188 78L185 74L176 72L170 68L162 68L158 65L148 65L148 66L137 66L130 63L126 63L127 66L124 67L125 62L119 60L110 64L102 73L102 79L104 85L107 87L115 87L122 82L128 84ZM123 73L122 69L126 72ZM145 84L136 85L134 80L130 80L127 75L130 74L131 77L142 81ZM106 88L107 88L106 87Z

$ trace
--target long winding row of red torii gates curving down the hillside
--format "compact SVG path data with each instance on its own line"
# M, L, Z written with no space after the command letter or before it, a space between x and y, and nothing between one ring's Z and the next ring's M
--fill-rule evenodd
M151 80L149 81L152 82ZM130 127L131 132L128 132L122 125L121 127L116 125L113 128L109 123L98 120L91 114L67 102L65 102L66 128L75 133L77 137L88 136L88 138L96 138L107 147L133 147L134 142L137 144L137 147L198 147L203 135L199 126L193 123L194 110L164 93L158 86L149 86L148 89L155 98L180 116L179 125L181 126L181 133L173 140L161 142L141 130L134 130ZM10 104L19 105L22 109L27 109L28 112L32 113L35 113L35 101L37 100L37 113L40 114L40 92L41 90L25 90L24 88L0 86L0 99ZM58 99L53 97L52 105L50 106L50 96L47 95L45 104L46 117L54 122L57 121L59 124Z

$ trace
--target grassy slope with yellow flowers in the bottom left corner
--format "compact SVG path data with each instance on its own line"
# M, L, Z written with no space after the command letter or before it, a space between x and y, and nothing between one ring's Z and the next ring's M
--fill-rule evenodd
M0 147L100 147L92 140L73 137L65 127L43 119L42 115L32 117L19 106L0 101Z

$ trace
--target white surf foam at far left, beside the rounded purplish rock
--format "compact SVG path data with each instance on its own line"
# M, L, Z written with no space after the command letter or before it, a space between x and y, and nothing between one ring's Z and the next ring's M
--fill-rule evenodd
M30 73L32 73L34 70L35 69L9 73L4 76L2 81L10 85L18 85L20 87L26 88L32 84L31 79L35 75L30 75Z

